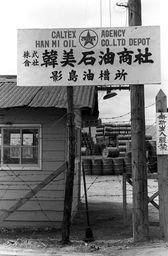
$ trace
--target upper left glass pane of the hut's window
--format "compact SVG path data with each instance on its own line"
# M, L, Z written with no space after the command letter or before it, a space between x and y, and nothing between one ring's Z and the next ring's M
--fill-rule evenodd
M20 129L4 129L4 146L20 145Z

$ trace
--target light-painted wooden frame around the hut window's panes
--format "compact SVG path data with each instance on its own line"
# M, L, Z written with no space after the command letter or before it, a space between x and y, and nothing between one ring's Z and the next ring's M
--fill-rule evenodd
M1 128L1 160L0 170L42 170L42 125L41 124L0 124ZM4 140L3 133L4 129L38 129L38 164L4 164L3 163L3 151L4 151ZM34 166L35 165L35 166Z

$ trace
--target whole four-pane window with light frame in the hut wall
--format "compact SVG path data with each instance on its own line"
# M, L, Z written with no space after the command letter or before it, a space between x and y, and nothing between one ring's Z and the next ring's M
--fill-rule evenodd
M0 129L1 168L41 167L41 125L13 125Z

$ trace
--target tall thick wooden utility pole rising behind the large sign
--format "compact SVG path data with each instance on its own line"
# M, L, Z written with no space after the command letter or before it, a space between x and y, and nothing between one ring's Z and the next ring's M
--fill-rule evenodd
M128 0L129 26L141 26L141 0ZM133 238L149 239L148 186L145 153L144 85L130 85L133 181Z

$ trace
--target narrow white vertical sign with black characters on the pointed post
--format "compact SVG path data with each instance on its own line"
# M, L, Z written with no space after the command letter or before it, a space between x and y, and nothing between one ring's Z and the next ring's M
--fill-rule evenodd
M156 154L168 154L168 113L156 113Z

